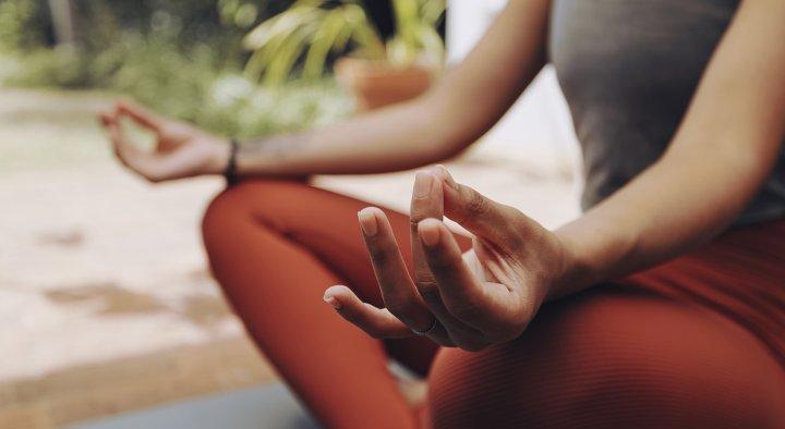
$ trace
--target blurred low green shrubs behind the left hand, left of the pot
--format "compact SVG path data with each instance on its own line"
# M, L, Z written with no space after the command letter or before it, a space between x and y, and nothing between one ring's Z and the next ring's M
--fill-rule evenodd
M222 135L258 136L329 123L348 115L351 101L331 79L266 87L220 66L206 47L184 53L140 35L97 53L58 48L32 52L8 84L101 88Z

